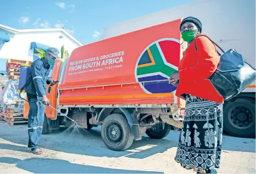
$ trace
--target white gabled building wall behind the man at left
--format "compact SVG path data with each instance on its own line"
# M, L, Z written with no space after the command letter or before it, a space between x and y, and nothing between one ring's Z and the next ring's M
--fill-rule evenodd
M5 43L0 50L0 58L4 59L13 58L32 61L33 50L30 50L31 42L52 46L59 51L61 51L61 46L64 45L65 50L69 51L69 55L75 48L80 46L61 31L21 32L17 35L6 33L10 36L10 42ZM63 36L63 38L59 38L60 36ZM59 56L61 55L59 54Z

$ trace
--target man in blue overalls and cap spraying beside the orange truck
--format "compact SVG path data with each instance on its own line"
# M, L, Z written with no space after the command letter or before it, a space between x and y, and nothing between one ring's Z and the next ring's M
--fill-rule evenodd
M50 65L53 65L58 52L55 48L49 48L45 52L45 57L36 59L30 65L30 72L27 77L25 91L27 92L29 102L28 115L28 149L37 155L42 154L39 148L39 142L43 130L44 113L46 104L49 102L46 97L47 84L55 84L48 78Z

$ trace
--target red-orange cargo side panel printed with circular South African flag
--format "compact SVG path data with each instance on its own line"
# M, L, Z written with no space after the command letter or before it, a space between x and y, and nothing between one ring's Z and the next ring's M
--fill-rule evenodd
M59 86L60 105L177 103L181 19L75 49Z

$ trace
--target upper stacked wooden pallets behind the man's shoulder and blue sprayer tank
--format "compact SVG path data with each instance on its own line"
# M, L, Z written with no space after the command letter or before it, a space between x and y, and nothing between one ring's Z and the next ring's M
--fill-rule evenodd
M9 76L9 79L19 79L21 65L31 63L32 61L23 61L9 58L8 61L6 62L6 72Z

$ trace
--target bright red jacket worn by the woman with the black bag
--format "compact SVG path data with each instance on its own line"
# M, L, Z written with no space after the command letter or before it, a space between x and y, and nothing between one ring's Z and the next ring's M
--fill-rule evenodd
M176 96L183 98L181 95L188 93L209 101L224 103L224 98L207 79L216 70L220 56L216 52L215 45L204 36L196 39L198 50L196 52L195 39L183 53L183 58L180 61L180 83L176 90Z

